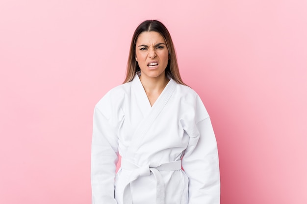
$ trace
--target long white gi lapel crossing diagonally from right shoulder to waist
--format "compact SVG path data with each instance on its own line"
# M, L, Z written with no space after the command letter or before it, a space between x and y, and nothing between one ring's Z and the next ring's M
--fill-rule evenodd
M138 76L135 76L138 77ZM139 80L139 79L137 79ZM141 83L139 81L139 83ZM168 100L172 96L173 92L175 91L177 83L173 80L170 79L164 90L161 92L157 100L154 102L153 107L151 107L144 115L144 119L141 121L141 123L138 125L137 129L135 130L132 140L131 140L131 145L128 148L128 154L127 155L133 155L134 150L136 150L146 135L147 131L149 130L150 126L153 124L153 121L157 118L157 116L161 113L163 110L164 106L167 104ZM143 88L143 87L142 87ZM142 92L138 92L138 94L143 94L145 93L144 89ZM146 95L146 93L145 93ZM142 96L144 97L144 96ZM146 99L148 101L148 98L146 96ZM149 101L148 101L149 103ZM128 158L127 158L128 159Z

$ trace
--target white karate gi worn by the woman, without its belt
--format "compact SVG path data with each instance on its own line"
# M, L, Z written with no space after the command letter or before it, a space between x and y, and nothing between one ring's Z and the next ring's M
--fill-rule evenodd
M125 204L130 183L133 204L156 204L154 174L130 182L135 170L120 168L118 154L139 167L182 159L183 170L159 171L165 204L219 204L217 145L198 94L170 80L151 107L136 74L97 103L92 139L92 204ZM115 181L114 181L115 180Z

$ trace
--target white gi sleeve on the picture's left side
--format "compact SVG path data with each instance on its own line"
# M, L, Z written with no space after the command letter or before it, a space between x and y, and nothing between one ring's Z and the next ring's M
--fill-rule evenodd
M114 179L118 138L110 120L108 113L102 113L95 107L91 155L92 204L117 204L114 199Z

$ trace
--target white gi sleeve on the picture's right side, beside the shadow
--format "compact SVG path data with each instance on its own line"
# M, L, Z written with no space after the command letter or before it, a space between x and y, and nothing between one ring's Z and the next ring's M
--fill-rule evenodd
M182 167L189 178L189 204L220 204L217 143L209 115L200 99L196 114L199 115L187 129L189 144L182 158Z

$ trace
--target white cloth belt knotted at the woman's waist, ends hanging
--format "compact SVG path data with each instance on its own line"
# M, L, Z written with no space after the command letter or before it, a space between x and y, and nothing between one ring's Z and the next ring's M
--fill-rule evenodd
M126 159L122 158L121 167L126 170L132 170L132 173L129 177L129 183L124 188L124 204L132 204L131 188L130 183L140 176L150 176L150 172L153 172L153 175L156 180L156 204L165 204L164 195L164 182L162 175L159 171L176 171L181 169L181 160L171 161L163 163L157 167L152 167L149 165L139 167Z

